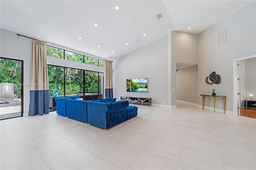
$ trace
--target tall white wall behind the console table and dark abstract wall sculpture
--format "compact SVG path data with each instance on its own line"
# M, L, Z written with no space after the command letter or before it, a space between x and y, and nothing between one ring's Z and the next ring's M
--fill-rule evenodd
M216 89L216 95L227 96L226 110L233 111L233 59L256 54L255 8L254 2L198 35L198 104L200 94ZM227 43L218 46L218 33L225 29ZM221 76L220 84L205 83L212 71ZM216 100L218 105L222 100ZM206 99L205 106L213 107L212 99Z

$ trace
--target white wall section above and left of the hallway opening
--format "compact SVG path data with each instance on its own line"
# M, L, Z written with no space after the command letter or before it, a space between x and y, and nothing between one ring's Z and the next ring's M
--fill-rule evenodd
M197 63L198 35L185 32L171 32L171 105L176 106L176 63ZM174 88L174 90L173 90ZM193 97L196 98L196 95ZM196 99L195 99L196 100ZM193 100L193 101L195 101Z

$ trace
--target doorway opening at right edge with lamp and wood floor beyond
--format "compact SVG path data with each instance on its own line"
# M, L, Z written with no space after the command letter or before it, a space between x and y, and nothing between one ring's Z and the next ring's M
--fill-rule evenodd
M234 115L256 119L256 55L234 59L233 74Z

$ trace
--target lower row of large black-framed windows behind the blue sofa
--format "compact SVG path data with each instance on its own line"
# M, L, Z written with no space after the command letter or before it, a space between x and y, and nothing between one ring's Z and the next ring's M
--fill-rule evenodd
M83 100L103 97L103 73L48 65L50 111L56 110L55 97L78 94ZM54 91L58 90L58 96Z

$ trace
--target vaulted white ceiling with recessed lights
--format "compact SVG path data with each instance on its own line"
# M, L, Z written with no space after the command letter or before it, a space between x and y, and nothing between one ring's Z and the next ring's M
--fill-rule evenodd
M252 2L255 0L1 0L0 27L113 61L171 31L199 34ZM160 13L163 17L158 19Z

